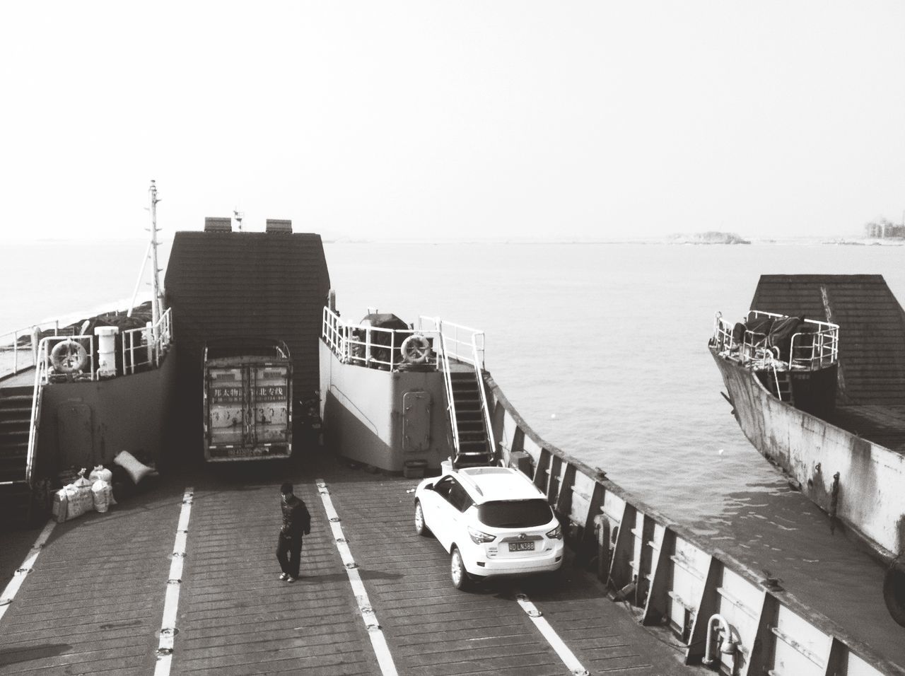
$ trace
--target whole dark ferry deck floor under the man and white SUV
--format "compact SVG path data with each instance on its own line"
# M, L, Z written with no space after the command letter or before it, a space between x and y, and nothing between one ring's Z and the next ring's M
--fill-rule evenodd
M591 673L704 673L681 646L609 601L593 576L455 590L448 557L414 534L417 481L345 468L206 467L169 477L106 514L55 526L0 619L0 673L150 674L183 491L194 486L171 673L381 674L315 480L327 482L395 668L403 674L567 674L515 600L519 591ZM277 579L279 485L312 514L302 577ZM0 533L0 584L37 530Z

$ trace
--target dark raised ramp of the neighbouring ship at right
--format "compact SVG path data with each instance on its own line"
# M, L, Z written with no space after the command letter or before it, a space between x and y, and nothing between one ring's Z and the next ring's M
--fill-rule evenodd
M905 405L905 312L882 275L762 275L751 309L838 324L840 403Z

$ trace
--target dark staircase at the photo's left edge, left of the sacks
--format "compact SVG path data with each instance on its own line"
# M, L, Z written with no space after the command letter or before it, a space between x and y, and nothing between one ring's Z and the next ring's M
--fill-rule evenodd
M31 518L28 437L33 387L0 388L0 514L5 523Z

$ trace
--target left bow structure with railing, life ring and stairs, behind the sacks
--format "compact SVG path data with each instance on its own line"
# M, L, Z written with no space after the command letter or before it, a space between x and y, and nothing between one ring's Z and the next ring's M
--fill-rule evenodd
M124 449L159 461L176 377L168 309L52 321L0 345L0 510L11 522L40 511L61 473Z

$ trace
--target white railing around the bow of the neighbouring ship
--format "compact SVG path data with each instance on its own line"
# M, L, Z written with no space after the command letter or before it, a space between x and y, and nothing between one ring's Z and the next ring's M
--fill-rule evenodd
M747 328L752 319L789 319L787 315L751 310L742 320L745 329L738 336L736 324L723 319L718 312L713 322L712 344L725 357L737 358L752 368L785 367L788 369L824 368L839 359L839 325L827 321L805 319L808 330L797 331L789 341L788 358L780 358L779 350L768 345L768 335Z

